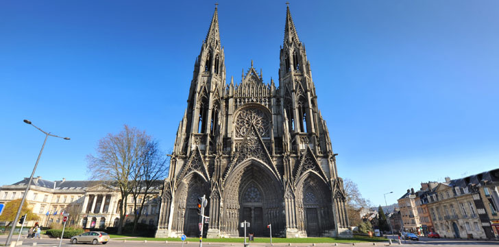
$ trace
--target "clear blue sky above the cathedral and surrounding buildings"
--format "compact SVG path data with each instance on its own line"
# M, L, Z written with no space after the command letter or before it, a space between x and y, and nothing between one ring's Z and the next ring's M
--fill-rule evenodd
M278 78L285 1L219 1L228 80ZM290 1L339 174L374 204L499 167L498 1ZM1 1L0 184L82 180L123 124L173 147L215 1Z

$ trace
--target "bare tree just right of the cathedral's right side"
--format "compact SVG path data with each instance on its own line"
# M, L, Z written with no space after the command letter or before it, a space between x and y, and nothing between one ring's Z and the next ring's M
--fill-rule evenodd
M345 192L347 194L346 206L348 211L348 220L352 226L358 226L362 223L361 210L372 207L372 203L363 198L360 191L358 191L357 184L352 180L345 178L343 180Z

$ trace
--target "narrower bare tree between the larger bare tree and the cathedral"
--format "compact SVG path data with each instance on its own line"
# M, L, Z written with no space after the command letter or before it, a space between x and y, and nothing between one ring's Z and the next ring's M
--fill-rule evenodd
M146 202L151 200L154 189L162 186L161 179L167 174L169 156L160 152L157 141L149 141L146 151L140 157L137 166L132 169L132 183L130 193L134 198L134 228L135 233L138 219L141 217ZM138 200L140 197L140 200Z

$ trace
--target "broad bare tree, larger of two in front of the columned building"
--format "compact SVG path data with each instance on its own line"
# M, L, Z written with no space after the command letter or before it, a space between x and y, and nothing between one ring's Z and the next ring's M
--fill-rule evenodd
M118 134L108 134L99 140L96 156L87 156L90 179L111 180L114 186L119 187L121 203L118 204L118 234L121 234L123 228L132 172L141 163L149 141L151 137L144 131L125 125Z

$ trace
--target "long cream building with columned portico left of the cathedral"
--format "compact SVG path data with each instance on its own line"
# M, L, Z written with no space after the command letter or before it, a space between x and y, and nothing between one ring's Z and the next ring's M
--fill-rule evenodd
M0 203L7 204L12 200L21 199L24 196L29 178L0 187ZM158 224L158 213L160 209L160 187L158 186L149 193L150 197L145 202L139 223L156 226ZM138 203L143 195L138 195ZM35 177L27 191L25 204L27 208L38 215L38 220L27 222L27 226L33 226L38 222L41 226L61 224L64 213L69 213L69 226L79 225L83 228L104 229L109 226L117 226L119 222L119 203L121 193L118 187L112 186L110 181L95 180L62 180L50 181ZM133 222L134 202L132 196L127 199L126 217L123 223ZM5 226L8 222L0 222ZM19 224L18 226L21 226Z

